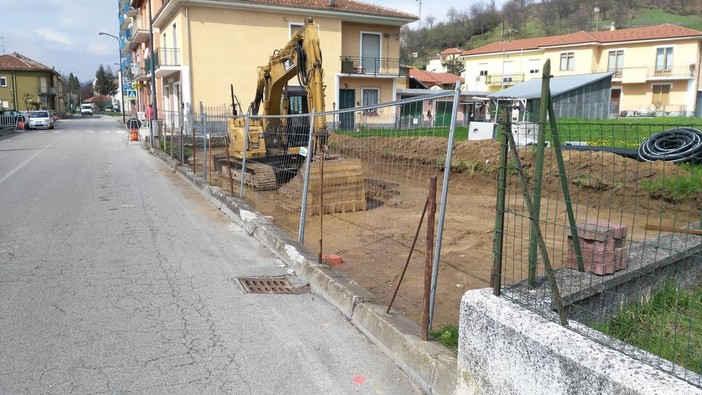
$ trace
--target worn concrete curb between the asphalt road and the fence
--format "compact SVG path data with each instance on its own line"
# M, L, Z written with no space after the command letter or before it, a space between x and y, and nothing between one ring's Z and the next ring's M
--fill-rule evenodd
M399 314L387 314L387 306L376 304L377 298L358 286L344 273L317 263L317 256L297 240L291 239L274 221L252 209L246 202L221 188L207 184L190 169L156 151L156 156L173 167L217 209L243 226L248 234L271 249L298 276L310 284L310 290L335 306L390 359L428 394L456 392L456 356L437 342L424 342L419 326Z

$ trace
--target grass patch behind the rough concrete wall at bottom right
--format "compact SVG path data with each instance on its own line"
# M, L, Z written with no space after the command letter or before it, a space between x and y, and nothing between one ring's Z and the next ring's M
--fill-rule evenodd
M626 306L594 328L702 374L702 286L666 283L647 302Z

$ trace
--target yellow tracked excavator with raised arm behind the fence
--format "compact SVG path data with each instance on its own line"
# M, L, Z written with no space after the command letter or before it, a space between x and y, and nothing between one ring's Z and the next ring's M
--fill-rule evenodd
M297 76L299 85L288 82ZM324 112L324 70L317 26L307 18L290 41L270 56L268 64L258 67L258 83L249 106L248 140L245 120L227 121L230 171L238 179L241 160L246 158L244 182L249 187L275 189L295 177L312 155L310 192L312 199L321 198L318 180L324 170L324 207L326 212L365 210L363 168L358 159L342 159L325 154L328 132L324 116L315 116L313 149L307 152L309 116L275 117L277 115ZM233 97L232 93L232 97ZM236 115L236 104L234 104ZM324 164L320 165L322 159ZM238 167L238 168L237 168ZM239 174L236 174L239 173ZM317 194L318 197L314 197Z

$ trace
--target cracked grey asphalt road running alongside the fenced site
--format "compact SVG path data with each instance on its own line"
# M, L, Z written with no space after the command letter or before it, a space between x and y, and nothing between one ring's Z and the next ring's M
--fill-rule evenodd
M1 394L419 392L112 118L0 137L0 208Z

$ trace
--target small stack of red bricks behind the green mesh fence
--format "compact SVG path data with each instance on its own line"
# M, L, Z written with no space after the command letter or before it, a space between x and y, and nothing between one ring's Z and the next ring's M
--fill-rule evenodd
M573 235L568 228L568 258L566 266L578 269L573 250ZM613 274L626 269L629 247L626 244L627 228L607 222L585 222L577 226L578 240L586 272L597 275Z

